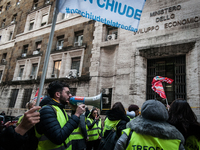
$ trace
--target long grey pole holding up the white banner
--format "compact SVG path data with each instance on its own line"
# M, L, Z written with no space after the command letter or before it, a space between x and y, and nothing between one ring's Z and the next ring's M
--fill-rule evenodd
M55 6L54 6L54 12L53 12L53 20L52 20L52 25L51 25L51 32L49 35L49 42L47 45L47 51L45 54L45 59L44 59L44 66L43 66L43 72L42 72L42 76L40 79L40 86L39 86L39 92L38 92L38 96L37 96L37 101L36 101L36 106L39 106L40 103L40 97L42 94L42 90L44 87L44 81L45 81L45 76L47 73L47 67L48 67L48 63L49 63L49 56L50 56L50 52L51 52L51 46L52 46L52 40L53 40L53 35L54 35L54 31L55 31L55 25L56 25L56 20L57 20L57 15L58 15L58 6L59 0L56 0Z

